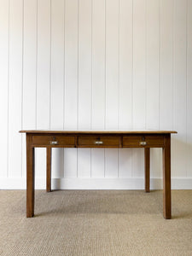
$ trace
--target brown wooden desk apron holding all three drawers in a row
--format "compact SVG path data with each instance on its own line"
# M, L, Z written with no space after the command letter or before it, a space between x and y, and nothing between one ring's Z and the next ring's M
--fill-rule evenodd
M31 133L27 133L31 134ZM165 134L47 134L32 135L32 147L49 148L162 148ZM144 144L143 144L144 143Z

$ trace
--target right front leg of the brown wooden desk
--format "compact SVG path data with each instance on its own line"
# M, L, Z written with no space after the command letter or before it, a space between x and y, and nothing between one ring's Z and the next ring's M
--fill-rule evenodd
M165 148L163 148L163 216L172 218L170 134L165 137Z

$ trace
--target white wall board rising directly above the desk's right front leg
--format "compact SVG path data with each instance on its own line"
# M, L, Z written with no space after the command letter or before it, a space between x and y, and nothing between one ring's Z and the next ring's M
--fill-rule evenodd
M160 129L172 130L173 1L160 1Z

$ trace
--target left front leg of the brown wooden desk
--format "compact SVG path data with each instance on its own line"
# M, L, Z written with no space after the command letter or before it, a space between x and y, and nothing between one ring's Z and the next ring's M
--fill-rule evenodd
M30 146L30 135L26 135L26 217L34 216L34 148Z

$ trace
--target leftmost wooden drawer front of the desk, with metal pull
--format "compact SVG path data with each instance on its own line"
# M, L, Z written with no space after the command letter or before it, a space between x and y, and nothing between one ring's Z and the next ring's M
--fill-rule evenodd
M74 147L75 139L73 136L32 136L32 144L37 146L67 146Z

